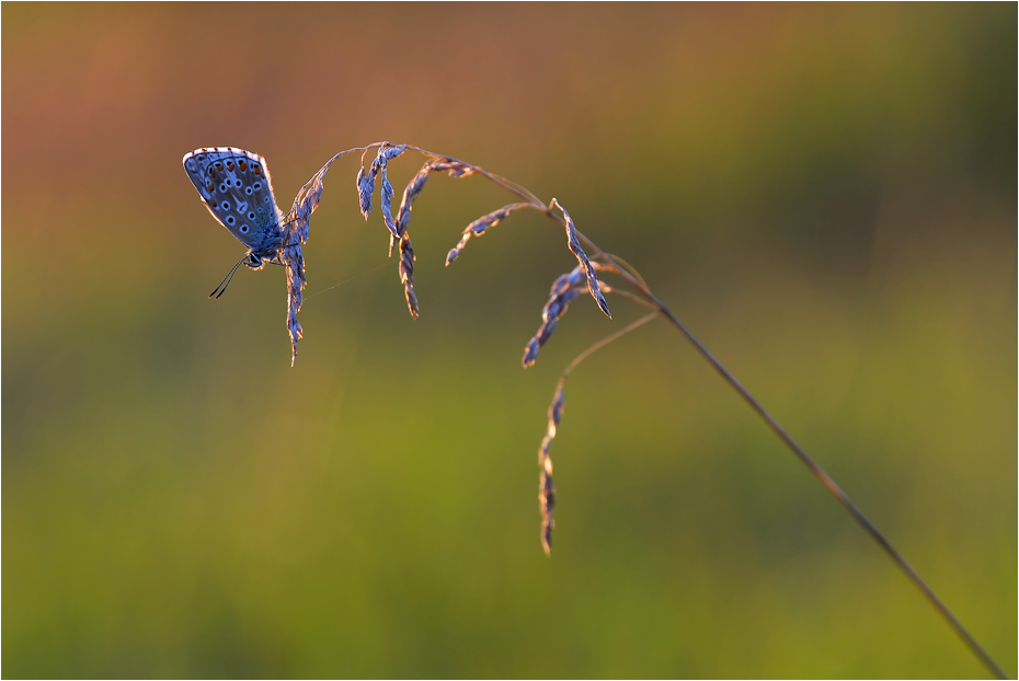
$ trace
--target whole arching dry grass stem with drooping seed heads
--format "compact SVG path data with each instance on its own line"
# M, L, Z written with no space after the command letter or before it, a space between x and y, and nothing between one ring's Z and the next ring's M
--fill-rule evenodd
M747 405L768 425L769 428L771 428L771 430L779 437L779 439L782 440L789 450L797 458L799 458L800 461L804 463L804 465L808 466L811 473L818 478L824 487L836 498L839 504L846 508L846 510L860 524L860 527L871 535L871 538L878 543L881 550L889 555L889 557L903 570L908 579L921 591L924 597L937 609L938 613L965 642L974 655L976 655L993 673L1000 678L1007 678L1001 668L998 667L994 659L991 658L991 656L980 646L976 639L973 638L973 636L965 630L965 627L952 614L947 605L941 602L941 600L920 578L916 570L913 569L913 567L905 561L905 558L874 527L874 524L867 519L862 511L849 499L849 497L838 487L838 485L835 484L831 476L828 476L827 473L813 460L813 458L810 457L806 451L803 450L803 448L800 447L800 445L793 440L788 432L786 432L786 430L778 424L778 422L764 408L764 406L749 393L749 391L747 391L740 383L740 381L736 380L736 378L724 367L724 365L722 365L708 350L708 348L705 347L705 345L701 344L700 340L698 340L683 325L682 322L679 322L672 310L669 310L655 297L646 281L644 281L644 279L633 267L631 267L626 262L605 253L594 241L576 230L573 218L569 211L563 208L561 204L559 204L557 199L552 199L549 205L545 205L540 199L538 199L537 196L535 196L535 194L533 194L526 187L514 183L513 181L491 173L480 166L466 163L458 159L454 159L453 157L434 153L413 145L390 145L389 142L375 142L365 147L347 149L346 151L342 151L335 154L319 170L318 173L316 173L316 175L308 182L308 184L301 187L301 191L298 192L294 208L291 208L290 211L293 221L290 224L284 228L285 233L287 234L287 244L286 246L280 246L279 259L287 269L287 327L290 333L293 348L291 363L294 361L294 357L296 357L297 354L297 340L301 336L301 327L297 321L297 312L300 310L302 289L305 286L305 265L300 245L308 239L311 213L318 206L319 198L322 193L322 180L330 164L343 154L353 151L366 151L373 148L378 148L378 154L371 164L370 171L366 172L364 170L364 163L362 163L362 169L357 174L356 184L358 192L358 204L362 215L367 218L371 210L371 195L375 189L375 182L376 178L380 176L381 212L386 222L386 227L391 234L390 254L392 253L394 243L399 241L400 279L403 282L404 295L407 297L408 307L411 310L412 315L417 314L417 298L414 292L413 284L414 251L410 242L410 236L408 235L405 221L409 221L410 219L409 216L411 204L413 203L413 199L416 198L416 196L421 193L421 188L424 186L427 173L439 171L448 172L451 177L466 177L473 174L481 175L488 181L510 192L519 198L524 204L533 206L535 209L543 212L546 216L565 228L568 246L576 257L579 265L573 272L568 273L566 275L563 275L557 279L556 285L552 287L549 301L546 303L546 307L542 310L542 325L535 338L531 339L531 343L528 344L528 349L525 353L525 366L534 362L538 348L540 348L541 345L548 340L549 336L556 327L557 321L562 316L570 301L580 295L580 292L585 287L591 293L592 298L595 299L598 308L606 315L610 316L608 304L605 300L605 297L603 296L603 287L600 286L597 276L598 272L610 272L614 275L619 276L629 288L629 290L626 290L614 288L611 286L605 286L604 292L623 295L654 309L654 312L648 316L633 322L629 326L606 338L603 338L598 343L587 348L577 358L575 358L569 367L566 367L566 370L563 372L562 379L560 380L560 384L557 386L557 394L552 401L552 406L549 409L550 426L546 429L546 438L542 440L540 451L542 471L540 481L542 545L545 546L546 551L549 551L551 546L551 530L554 524L553 510L556 507L556 487L552 484L552 464L549 457L549 448L551 446L552 438L556 436L559 422L562 418L562 407L564 404L562 392L563 381L569 376L570 371L572 371L572 369L591 353L614 340L615 338L618 338L619 336L628 333L632 328L636 328L640 324L646 323L651 319L654 319L655 315L661 315L666 319L677 331L679 331L687 340L689 340L695 349L718 371L722 379L729 383L741 395L741 397L743 397ZM393 219L393 189L388 180L387 164L390 160L399 157L404 151L420 152L423 155L430 158L432 162L428 166L426 166L430 170L425 171L425 174L420 178L420 182L412 181L411 185L409 185L408 191L404 192L404 201L401 204L401 212L398 216L399 219ZM425 169L423 169L423 171ZM556 209L561 211L562 217L554 212ZM471 236L482 234L484 230L495 224L499 220L504 219L505 216L501 215L501 210L502 209L493 211L493 213L489 213L488 216L483 216L478 221L468 226L468 230L465 231L460 243L456 249L450 251L449 255L447 255L447 264L456 259L459 251L462 250L463 245ZM494 219L493 215L497 217L497 219ZM401 224L402 229L400 228ZM591 261L587 257L584 247L582 247L582 243L584 246L591 250L593 255L596 258L599 258L600 262L598 262L598 259Z

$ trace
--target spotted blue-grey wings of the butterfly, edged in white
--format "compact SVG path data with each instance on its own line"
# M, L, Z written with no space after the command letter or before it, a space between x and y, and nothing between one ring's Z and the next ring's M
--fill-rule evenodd
M265 159L233 147L196 149L184 155L184 170L205 207L238 241L255 252L278 244L283 213Z

